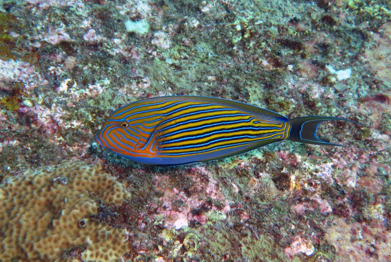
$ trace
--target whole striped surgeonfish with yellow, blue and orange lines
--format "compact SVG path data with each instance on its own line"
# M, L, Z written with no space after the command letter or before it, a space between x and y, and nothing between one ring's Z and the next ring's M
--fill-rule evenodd
M354 122L330 116L288 119L267 109L220 98L155 97L115 110L95 139L139 163L180 165L225 158L285 139L341 146L317 138L318 125L328 120Z

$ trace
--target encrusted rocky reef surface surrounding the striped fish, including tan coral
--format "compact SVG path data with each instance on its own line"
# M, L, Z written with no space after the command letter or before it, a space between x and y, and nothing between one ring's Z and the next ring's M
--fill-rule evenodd
M0 0L0 260L391 261L389 0ZM219 97L323 140L176 167L93 138L111 112Z

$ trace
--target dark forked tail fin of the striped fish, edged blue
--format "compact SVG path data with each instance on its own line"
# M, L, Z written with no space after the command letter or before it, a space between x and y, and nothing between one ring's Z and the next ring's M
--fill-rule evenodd
M349 146L344 146L339 144L328 143L326 141L320 140L316 136L316 129L318 128L319 124L329 120L348 121L348 122L360 124L352 120L339 118L339 117L332 117L332 116L298 117L294 119L289 119L289 123L291 124L291 130L287 140L305 143L305 144L349 147Z

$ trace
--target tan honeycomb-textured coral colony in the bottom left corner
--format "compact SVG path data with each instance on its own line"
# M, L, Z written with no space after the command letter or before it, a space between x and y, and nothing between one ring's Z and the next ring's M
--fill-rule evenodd
M0 261L115 261L130 250L125 230L90 215L99 201L130 197L100 166L84 163L8 178L0 185Z

